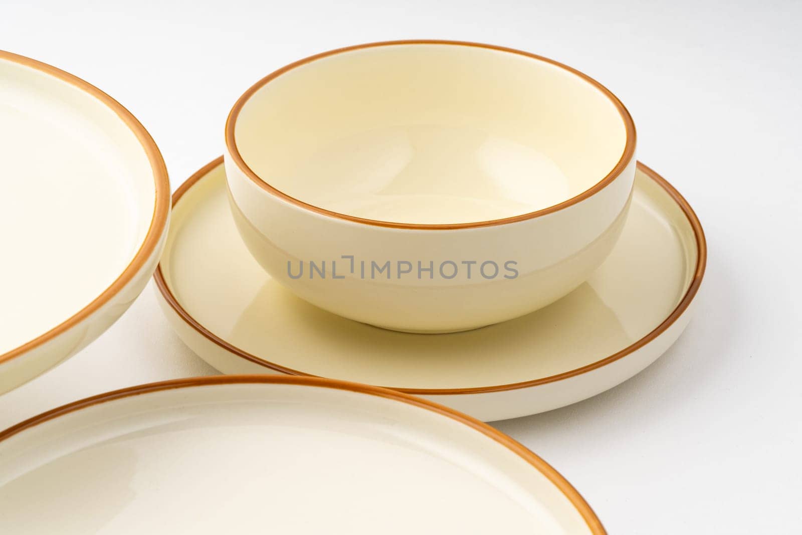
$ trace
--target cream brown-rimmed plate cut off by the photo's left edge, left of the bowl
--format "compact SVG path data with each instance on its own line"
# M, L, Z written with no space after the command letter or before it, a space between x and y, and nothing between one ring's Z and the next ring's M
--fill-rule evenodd
M0 393L79 351L140 293L160 254L167 171L96 87L0 51Z

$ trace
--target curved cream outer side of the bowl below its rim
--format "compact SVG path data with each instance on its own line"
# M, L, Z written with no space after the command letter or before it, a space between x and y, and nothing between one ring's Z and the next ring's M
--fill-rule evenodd
M395 229L313 212L259 188L226 155L237 229L261 266L334 314L444 333L503 322L575 289L613 249L636 162L584 201L472 229Z

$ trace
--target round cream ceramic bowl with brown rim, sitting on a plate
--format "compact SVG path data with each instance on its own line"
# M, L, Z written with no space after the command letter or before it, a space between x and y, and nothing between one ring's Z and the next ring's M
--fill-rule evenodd
M251 253L325 310L450 332L556 301L602 263L634 180L629 113L549 59L375 43L261 79L225 131Z

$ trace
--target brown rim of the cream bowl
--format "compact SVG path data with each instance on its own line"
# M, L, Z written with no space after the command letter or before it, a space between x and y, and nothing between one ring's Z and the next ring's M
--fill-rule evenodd
M241 156L239 149L237 148L237 141L234 136L234 129L237 124L237 117L242 110L242 107L245 106L245 103L253 96L254 93L259 91L262 87L265 87L267 83L271 80L276 79L277 77L285 74L287 71L291 71L296 67L301 67L302 65L306 65L306 63L312 63L318 59L323 59L332 55L342 54L343 52L350 52L350 51L358 51L363 50L366 48L375 48L375 47L388 47L388 46L395 46L395 45L452 45L458 47L476 47L476 48L484 48L492 51L500 51L500 52L507 52L510 54L522 55L529 59L536 59L538 61L542 61L545 63L549 63L555 67L559 67L565 71L572 73L573 75L577 75L579 78L585 80L585 82L589 83L593 87L595 87L598 91L602 91L602 94L605 95L610 102L618 110L619 115L622 118L624 123L624 127L626 130L626 143L624 145L624 150L622 152L621 158L618 160L618 163L615 164L614 168L607 173L607 175L599 180L596 184L594 184L589 189L586 189L584 192L579 193L578 195L571 197L566 201L562 201L557 205L549 206L545 209L536 210L534 212L523 213L517 216L512 217L503 217L500 219L493 219L489 221L474 221L470 223L446 223L446 224L417 224L417 223L398 223L394 221L381 221L376 219L367 219L365 217L356 217L351 216L346 213L339 213L334 212L332 210L327 210L321 208L319 206L310 205L300 199L295 197L290 197L286 193L283 193L281 190L274 188L272 185L268 184L265 180L263 180L260 176L257 175L256 172L253 172L253 169L249 167L248 164L245 163L245 159ZM635 141L637 139L637 133L635 132L635 124L632 120L632 116L630 116L630 112L627 111L624 104L621 100L618 99L609 89L604 87L601 83L597 82L597 80L585 75L585 73L581 71L577 71L573 67L569 67L563 63L559 63L554 61L553 59L545 58L541 55L531 54L525 51L519 51L514 48L508 47L498 47L496 45L490 45L485 43L472 43L468 41L449 41L444 39L404 39L399 41L380 41L377 43L365 43L361 45L354 45L351 47L343 47L338 48L332 51L322 52L320 54L311 55L308 58L300 59L295 63L290 63L286 67L282 67L277 71L273 71L269 75L265 76L264 78L260 79L257 83L254 83L253 86L249 87L245 93L241 95L237 102L234 103L234 106L231 108L229 112L229 117L225 121L225 146L228 150L229 156L231 156L231 160L233 164L240 169L241 172L245 174L250 180L253 181L254 184L257 184L259 187L264 189L266 192L273 194L284 201L290 202L293 205L296 205L302 209L310 210L314 213L319 213L324 216L328 217L335 217L337 219L342 219L345 221L351 221L354 223L362 223L364 225L374 225L380 227L390 227L393 229L415 229L415 230L453 230L453 229L476 229L480 227L488 227L488 226L495 226L495 225L506 225L508 223L516 223L518 221L526 221L529 219L533 219L535 217L545 216L548 213L557 212L557 210L568 208L569 206L576 205L580 201L584 201L588 197L592 196L594 193L602 190L607 185L611 184L618 175L626 168L627 165L630 164L630 161L634 157L635 153Z

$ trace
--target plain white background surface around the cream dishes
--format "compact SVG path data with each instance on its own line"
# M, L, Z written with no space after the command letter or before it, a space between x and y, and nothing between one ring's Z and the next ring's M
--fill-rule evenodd
M610 87L634 116L639 159L707 231L699 306L634 379L497 426L561 471L610 533L800 533L802 2L126 3L2 0L0 48L128 107L173 188L221 154L245 88L334 47L494 43ZM152 292L79 355L0 397L0 428L101 391L212 374Z

